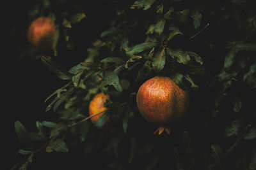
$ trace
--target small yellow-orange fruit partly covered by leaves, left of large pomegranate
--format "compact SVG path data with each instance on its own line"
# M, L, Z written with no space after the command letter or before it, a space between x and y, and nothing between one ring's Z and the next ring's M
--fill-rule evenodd
M104 107L104 103L106 103L107 99L109 99L109 96L105 95L104 93L99 93L95 97L93 97L92 101L89 104L89 115L92 116L107 110L107 108ZM93 124L95 124L98 121L98 119L103 113L104 112L91 118Z

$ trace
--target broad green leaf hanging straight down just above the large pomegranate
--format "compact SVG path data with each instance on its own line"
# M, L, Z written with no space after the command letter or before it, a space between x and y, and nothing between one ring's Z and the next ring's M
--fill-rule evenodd
M166 54L165 54L165 48L163 48L161 51L157 52L156 55L154 55L152 66L154 70L159 73L163 68L166 60Z

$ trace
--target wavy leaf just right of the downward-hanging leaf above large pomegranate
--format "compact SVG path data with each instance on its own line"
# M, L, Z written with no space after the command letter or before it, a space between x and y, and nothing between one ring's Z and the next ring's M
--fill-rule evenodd
M184 52L182 50L172 50L172 49L168 48L168 53L173 59L176 59L177 62L179 62L179 63L186 65L190 61L188 52Z

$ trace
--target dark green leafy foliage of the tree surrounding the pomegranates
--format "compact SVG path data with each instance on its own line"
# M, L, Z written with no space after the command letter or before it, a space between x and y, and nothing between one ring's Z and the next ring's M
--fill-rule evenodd
M84 59L69 69L61 66L58 54L63 48L75 53L70 30L90 16L86 10L57 10L61 4L72 8L67 1L40 3L33 3L31 20L45 10L60 31L42 64L66 85L45 99L45 111L54 118L37 121L38 132L15 122L22 144L17 154L27 157L13 169L29 167L40 150L70 152L76 146L83 147L88 169L256 168L253 1L108 1L115 16L84 49ZM36 54L32 47L20 51L21 58ZM143 120L136 106L138 88L156 75L169 76L190 91L188 116L170 136L154 136L156 125ZM99 92L110 99L93 125L88 104ZM103 158L97 165L90 161Z

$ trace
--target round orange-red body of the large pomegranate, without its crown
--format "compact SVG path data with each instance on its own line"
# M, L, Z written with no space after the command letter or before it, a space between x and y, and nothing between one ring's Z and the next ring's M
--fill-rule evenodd
M170 78L156 76L141 85L136 101L142 117L148 122L177 124L186 115L189 96Z

